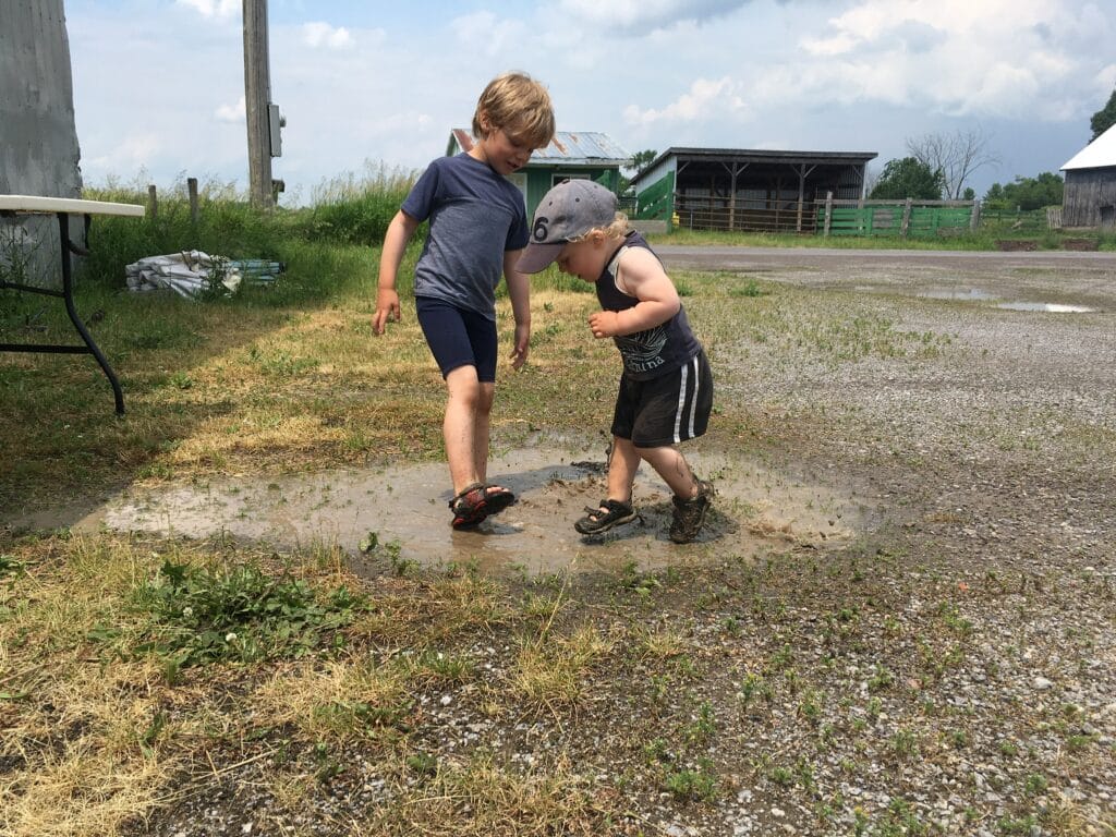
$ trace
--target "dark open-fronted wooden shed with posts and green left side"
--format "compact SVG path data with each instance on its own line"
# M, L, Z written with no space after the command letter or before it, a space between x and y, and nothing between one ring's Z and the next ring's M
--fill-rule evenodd
M633 182L635 218L694 230L814 232L818 206L864 196L875 152L668 148Z

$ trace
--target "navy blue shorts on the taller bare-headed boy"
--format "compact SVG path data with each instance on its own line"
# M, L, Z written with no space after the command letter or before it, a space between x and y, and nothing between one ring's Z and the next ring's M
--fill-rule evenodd
M496 320L434 297L415 297L415 311L443 378L475 366L478 381L496 383Z

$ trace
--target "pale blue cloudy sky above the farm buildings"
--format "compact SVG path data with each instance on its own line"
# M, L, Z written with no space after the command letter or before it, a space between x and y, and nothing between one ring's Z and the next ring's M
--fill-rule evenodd
M247 192L241 0L65 0L87 185ZM874 152L974 134L966 182L1057 172L1116 87L1114 0L269 0L280 203L411 174L521 70L559 131L672 146Z

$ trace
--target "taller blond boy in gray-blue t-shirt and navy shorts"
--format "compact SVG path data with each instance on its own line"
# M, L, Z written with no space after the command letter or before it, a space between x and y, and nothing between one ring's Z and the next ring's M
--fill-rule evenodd
M430 220L415 266L415 310L449 391L442 432L453 482L452 526L475 527L516 496L487 481L489 415L496 393L496 287L501 273L516 319L512 367L527 360L531 312L516 262L528 241L523 195L507 175L550 143L554 109L546 88L521 73L492 79L473 115L475 145L431 163L388 224L379 261L373 330L400 319L395 277L407 241Z

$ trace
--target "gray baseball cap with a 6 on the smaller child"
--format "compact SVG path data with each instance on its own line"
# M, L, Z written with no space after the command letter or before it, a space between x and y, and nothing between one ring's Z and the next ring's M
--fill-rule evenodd
M531 240L516 269L538 273L558 258L570 239L597 227L607 227L616 218L616 195L591 180L567 180L545 195L535 210Z

